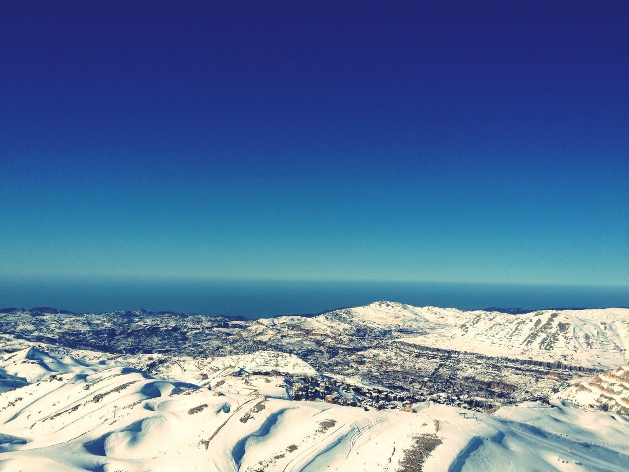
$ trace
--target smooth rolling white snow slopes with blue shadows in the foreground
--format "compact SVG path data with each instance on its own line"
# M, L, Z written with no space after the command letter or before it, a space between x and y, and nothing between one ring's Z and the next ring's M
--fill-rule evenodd
M45 364L48 375L0 393L0 471L568 472L629 463L629 419L569 403L494 415L436 404L365 411L220 395L107 360L28 351L3 365L36 357L24 366Z

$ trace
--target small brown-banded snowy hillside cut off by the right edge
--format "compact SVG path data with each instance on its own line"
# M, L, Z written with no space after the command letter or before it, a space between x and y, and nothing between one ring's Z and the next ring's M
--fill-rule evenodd
M629 417L629 364L579 381L557 394L578 405L591 405Z

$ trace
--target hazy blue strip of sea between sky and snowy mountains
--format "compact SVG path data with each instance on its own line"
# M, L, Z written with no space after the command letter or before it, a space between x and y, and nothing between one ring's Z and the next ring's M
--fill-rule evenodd
M0 308L49 306L73 312L152 311L266 318L399 301L415 306L607 308L629 306L629 287L529 284L96 279L0 277Z

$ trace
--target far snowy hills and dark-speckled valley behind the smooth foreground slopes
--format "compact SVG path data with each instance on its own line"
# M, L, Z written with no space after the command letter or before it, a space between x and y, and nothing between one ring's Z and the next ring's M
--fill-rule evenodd
M482 398L487 407L544 398L576 374L592 376L625 364L628 330L629 310L621 308L509 314L378 302L314 317L260 320L147 310L0 310L0 341L11 346L7 351L22 346L21 340L82 349L81 359L90 358L89 350L108 351L135 368L191 383L203 373L209 381L234 368L262 372L256 362L271 362L267 378L313 369L398 396L427 399L447 392L448 403ZM211 366L218 357L230 360ZM15 385L26 379L18 371L0 371L4 376ZM252 394L264 387L239 383L230 379L223 385ZM269 391L282 395L292 395L290 388Z

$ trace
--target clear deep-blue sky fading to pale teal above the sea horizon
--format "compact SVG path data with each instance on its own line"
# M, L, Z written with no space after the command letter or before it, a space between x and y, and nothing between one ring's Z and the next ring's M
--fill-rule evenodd
M629 284L629 3L0 5L0 273Z

